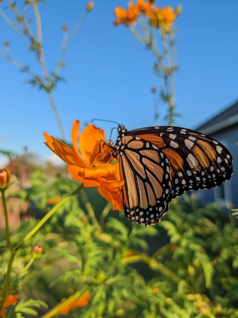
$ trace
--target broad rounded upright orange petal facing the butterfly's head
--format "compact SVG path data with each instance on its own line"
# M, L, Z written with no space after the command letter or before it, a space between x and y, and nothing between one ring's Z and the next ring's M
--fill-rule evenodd
M96 155L100 153L100 142L104 139L104 130L95 127L93 124L90 124L84 128L80 134L80 152L89 165L93 164Z

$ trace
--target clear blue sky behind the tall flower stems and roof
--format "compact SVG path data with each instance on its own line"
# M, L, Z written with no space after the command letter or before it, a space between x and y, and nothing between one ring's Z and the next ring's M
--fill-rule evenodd
M7 1L0 3L4 8ZM17 1L22 3L23 1ZM83 14L86 1L55 0L40 3L43 43L48 69L59 57L62 24L69 29ZM157 84L152 54L124 26L114 27L113 10L124 0L95 0L66 55L66 68L54 91L67 138L73 120L93 118L122 122L130 129L153 126L151 86ZM182 4L178 33L176 106L177 126L195 128L238 98L238 1L163 0L157 5ZM29 11L29 16L31 16ZM33 61L27 40L0 17L0 45L10 42L12 56L23 64ZM31 152L46 158L43 132L59 136L55 118L43 92L25 84L27 77L0 55L0 149ZM164 111L161 113L160 125ZM111 125L98 123L108 133Z

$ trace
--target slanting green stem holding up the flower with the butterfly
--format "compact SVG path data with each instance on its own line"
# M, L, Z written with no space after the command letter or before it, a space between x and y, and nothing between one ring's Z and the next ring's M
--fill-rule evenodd
M42 225L45 224L46 221L49 220L49 218L55 213L55 211L61 206L63 205L65 202L69 201L69 199L71 199L71 197L73 197L76 193L78 193L81 189L83 188L83 183L80 184L80 186L73 191L68 197L64 198L62 201L60 201L59 203L57 203L53 209L51 209L39 222L38 224L36 224L36 226L24 237L24 239L18 243L18 245L16 246L16 251L26 242L28 241L41 227Z

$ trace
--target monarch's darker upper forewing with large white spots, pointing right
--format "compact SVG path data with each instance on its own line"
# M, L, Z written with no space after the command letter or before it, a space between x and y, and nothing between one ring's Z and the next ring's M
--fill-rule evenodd
M169 159L169 200L186 190L210 189L232 176L229 151L211 137L180 127L151 127L129 131L157 146Z

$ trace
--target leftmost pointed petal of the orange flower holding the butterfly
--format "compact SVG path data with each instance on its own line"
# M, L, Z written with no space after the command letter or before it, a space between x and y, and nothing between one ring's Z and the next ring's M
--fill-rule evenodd
M73 165L79 165L81 167L86 167L87 164L82 158L78 157L75 151L68 146L66 146L62 141L55 139L53 136L44 133L45 144L54 153L59 156L64 162Z

